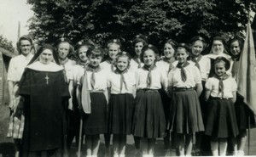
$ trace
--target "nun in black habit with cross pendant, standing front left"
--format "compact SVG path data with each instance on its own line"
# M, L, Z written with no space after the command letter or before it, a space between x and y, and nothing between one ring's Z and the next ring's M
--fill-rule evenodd
M69 98L64 70L55 49L39 48L20 80L24 103L23 156L62 156L64 106Z

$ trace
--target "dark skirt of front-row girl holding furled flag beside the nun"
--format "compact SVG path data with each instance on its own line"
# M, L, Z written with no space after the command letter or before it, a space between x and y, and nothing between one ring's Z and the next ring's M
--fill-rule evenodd
M85 135L107 133L107 99L103 93L90 93L91 113L84 115L83 132Z

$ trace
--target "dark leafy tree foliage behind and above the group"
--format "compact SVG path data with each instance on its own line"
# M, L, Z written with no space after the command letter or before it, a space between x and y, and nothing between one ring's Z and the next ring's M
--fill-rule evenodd
M236 33L247 24L247 0L27 0L32 4L32 36L54 42L68 36L73 42L92 39L103 44L119 37L129 47L137 34L159 45L166 38L188 42L195 35L207 39Z

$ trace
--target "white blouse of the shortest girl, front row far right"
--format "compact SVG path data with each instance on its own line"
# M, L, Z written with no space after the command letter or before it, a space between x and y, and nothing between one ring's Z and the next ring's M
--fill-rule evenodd
M233 92L237 90L237 84L234 78L231 76L223 81L224 83L224 95L218 91L219 80L216 77L210 77L206 83L206 89L211 91L212 97L218 98L233 98Z

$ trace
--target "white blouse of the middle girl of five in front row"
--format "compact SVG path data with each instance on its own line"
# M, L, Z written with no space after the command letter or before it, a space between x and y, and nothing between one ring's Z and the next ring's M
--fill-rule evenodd
M165 71L160 70L160 68L155 67L151 70L151 86L147 86L148 70L140 68L136 71L137 77L137 89L160 89L161 85L165 88L168 86L168 81Z

